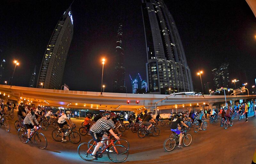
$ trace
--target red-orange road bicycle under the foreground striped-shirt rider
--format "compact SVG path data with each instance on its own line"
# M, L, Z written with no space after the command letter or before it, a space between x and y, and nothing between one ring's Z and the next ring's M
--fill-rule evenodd
M114 144L113 139L106 139L102 141L107 141L107 140L110 140L110 144L108 144L101 152L97 152L96 158L102 158L103 156L102 153L104 153L107 150L107 148L109 148L108 158L110 160L112 160L113 162L125 161L128 157L128 150L123 145ZM96 141L94 141L93 144L84 142L78 146L77 152L83 160L92 161L94 160L94 158L91 156L91 154L96 145L97 145Z

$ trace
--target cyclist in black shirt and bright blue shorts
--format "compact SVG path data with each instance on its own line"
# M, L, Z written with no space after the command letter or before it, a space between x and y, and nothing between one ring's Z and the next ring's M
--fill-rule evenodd
M177 135L180 135L181 133L181 127L179 125L179 123L181 123L183 126L188 128L188 125L186 125L180 118L181 113L177 113L176 114L176 118L172 121L172 125L171 125L171 131L175 132ZM180 139L179 139L179 144L178 147L182 148L183 146L181 146L181 140L182 140L182 135L180 135Z

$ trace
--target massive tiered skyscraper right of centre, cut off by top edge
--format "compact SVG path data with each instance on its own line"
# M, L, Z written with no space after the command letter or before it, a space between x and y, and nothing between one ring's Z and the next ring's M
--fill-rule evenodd
M148 90L155 94L193 91L190 69L175 22L163 0L142 0Z

